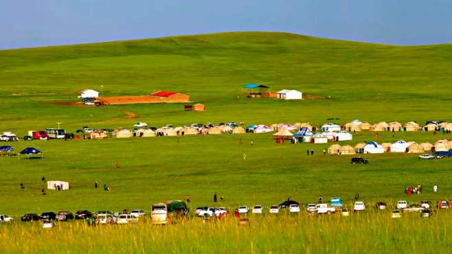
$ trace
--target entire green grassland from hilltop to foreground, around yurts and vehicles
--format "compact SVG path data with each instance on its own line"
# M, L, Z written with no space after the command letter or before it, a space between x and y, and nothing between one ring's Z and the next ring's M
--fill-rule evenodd
M394 47L294 34L229 33L0 51L0 130L25 135L27 130L55 126L56 122L74 131L86 125L129 127L137 121L153 126L227 121L318 125L330 117L338 118L338 123L355 118L368 122L451 121L451 49L452 45ZM240 86L249 82L273 90L299 89L317 99L237 98ZM72 104L78 91L100 90L100 85L104 95L138 95L160 89L190 93L192 100L206 104L207 111L186 113L180 104ZM331 99L325 99L326 95ZM125 117L127 111L137 118ZM451 139L442 133L387 132L377 141L434 142L442 138ZM348 143L364 139L376 138L362 132ZM414 154L380 154L366 155L368 165L350 165L348 156L321 154L328 145L276 144L266 134L21 141L12 145L16 150L34 146L44 152L44 159L0 158L0 213L13 216L67 209L147 210L152 203L184 199L187 194L192 196L190 208L194 209L213 205L215 192L226 198L221 205L231 208L278 204L289 196L301 203L313 203L319 195L341 196L350 205L359 192L361 199L372 205L401 198L410 203L433 201L452 194L449 159L422 161ZM307 149L315 150L315 155L306 157ZM247 154L245 161L243 154ZM114 168L114 163L121 167ZM72 188L47 191L43 196L43 176L69 181ZM95 189L94 181L106 183L112 191ZM405 186L417 184L425 188L422 195L403 194ZM439 187L436 193L431 191L434 184ZM402 245L405 249L401 252L428 253L448 246L450 216L438 213L432 220L416 216L398 222L389 220L388 213L372 212L346 221L282 217L253 220L246 228L236 227L235 222L205 225L192 221L163 228L142 224L85 229L67 224L42 231L14 223L0 225L0 235L11 242L7 252L133 253L156 248L192 253L381 253L394 252ZM81 236L86 240L75 240ZM96 237L108 240L97 241ZM141 240L144 238L148 240ZM124 241L127 243L122 244Z

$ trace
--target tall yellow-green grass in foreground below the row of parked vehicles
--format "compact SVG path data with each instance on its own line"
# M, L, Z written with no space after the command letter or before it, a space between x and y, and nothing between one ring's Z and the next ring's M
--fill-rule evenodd
M15 222L0 227L1 253L433 253L451 246L450 213L433 218L389 212L340 216L194 218L181 224L88 227L84 222Z

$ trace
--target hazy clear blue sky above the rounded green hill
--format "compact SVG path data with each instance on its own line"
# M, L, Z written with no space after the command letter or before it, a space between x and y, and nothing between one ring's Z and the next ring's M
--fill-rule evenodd
M451 0L4 0L0 49L179 34L281 31L452 43Z

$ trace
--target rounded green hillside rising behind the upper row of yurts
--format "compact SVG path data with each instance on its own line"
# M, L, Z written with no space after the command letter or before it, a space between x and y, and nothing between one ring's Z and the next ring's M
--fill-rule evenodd
M452 45L399 47L267 32L176 36L0 51L2 129L190 122L339 122L450 119ZM240 86L299 89L315 100L237 98ZM189 93L207 111L178 104L74 106L78 91ZM330 95L331 99L324 99ZM441 111L438 111L441 108ZM125 111L138 115L131 120ZM17 125L17 122L23 125Z

